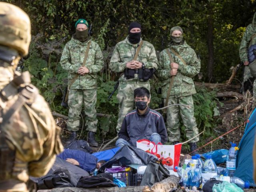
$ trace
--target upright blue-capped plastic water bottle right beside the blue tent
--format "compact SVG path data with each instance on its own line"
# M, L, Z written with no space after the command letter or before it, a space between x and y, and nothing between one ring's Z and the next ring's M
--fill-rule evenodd
M227 154L226 168L228 169L228 176L233 176L236 171L236 154L237 148L235 143L231 143L231 148Z

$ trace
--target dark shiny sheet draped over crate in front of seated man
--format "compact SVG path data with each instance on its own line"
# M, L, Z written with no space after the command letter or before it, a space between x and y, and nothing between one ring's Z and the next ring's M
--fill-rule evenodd
M130 164L148 165L150 161L157 160L156 156L147 153L139 148L125 145L105 164L102 165L99 172L104 172L105 168L112 165L128 166Z

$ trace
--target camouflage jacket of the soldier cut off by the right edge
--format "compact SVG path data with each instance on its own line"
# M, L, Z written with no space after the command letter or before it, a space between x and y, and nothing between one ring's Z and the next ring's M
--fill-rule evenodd
M252 19L252 23L246 27L244 32L244 36L242 38L240 48L239 48L239 56L242 62L248 61L247 51L251 45L256 44L256 37L252 39L252 36L256 34L256 13Z

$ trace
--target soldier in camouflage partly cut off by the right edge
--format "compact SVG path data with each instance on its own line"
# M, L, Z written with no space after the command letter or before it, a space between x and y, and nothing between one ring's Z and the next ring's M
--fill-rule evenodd
M252 19L252 23L249 24L246 27L246 30L244 32L244 36L242 38L240 48L239 48L239 56L240 60L244 63L244 78L242 84L244 85L244 82L246 82L250 77L252 77L250 68L248 66L248 49L250 46L256 44L256 13L254 14L254 17ZM256 81L254 80L253 83L253 94L254 97L256 96Z

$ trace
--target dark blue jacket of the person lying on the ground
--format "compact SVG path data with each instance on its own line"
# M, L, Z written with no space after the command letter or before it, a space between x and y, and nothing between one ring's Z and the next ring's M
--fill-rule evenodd
M66 160L67 158L77 160L80 168L89 173L94 171L96 168L96 163L98 162L98 158L81 150L64 149L64 151L59 154L58 157L63 160Z

